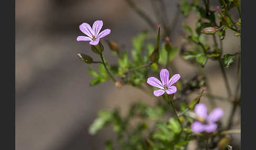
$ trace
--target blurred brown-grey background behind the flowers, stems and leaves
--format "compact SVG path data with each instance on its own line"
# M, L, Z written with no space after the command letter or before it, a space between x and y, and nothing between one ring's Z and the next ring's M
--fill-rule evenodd
M148 0L134 1L144 12L153 16L154 10ZM178 0L164 1L169 23L173 23L178 9ZM212 9L219 1L211 1ZM238 18L233 12L233 18ZM16 1L16 149L17 150L64 150L103 149L104 141L115 138L111 130L103 130L97 135L88 134L88 126L97 111L105 108L122 108L134 101L154 103L155 99L129 86L117 89L114 83L90 87L92 77L88 74L88 64L83 63L76 53L82 52L100 59L90 50L87 41L76 41L83 35L79 25L93 24L103 20L103 28L111 29L110 39L131 49L131 39L142 30L156 34L146 22L127 5L125 0L19 0ZM198 18L178 16L175 30L171 31L174 47L184 40L182 23L195 27ZM240 50L240 38L227 32L224 39L224 53ZM103 41L103 45L106 43ZM104 55L110 63L117 59L105 46ZM235 89L237 61L227 69L232 92ZM175 57L174 65L183 79L191 79L196 68ZM96 67L97 65L92 65ZM209 61L203 71L209 78L213 94L227 97L223 77L218 62ZM209 105L207 98L202 102ZM225 111L222 121L228 121L230 103L216 101ZM232 128L240 128L240 108L237 110ZM111 128L110 128L111 129ZM232 136L240 145L240 134ZM193 149L191 146L190 149Z

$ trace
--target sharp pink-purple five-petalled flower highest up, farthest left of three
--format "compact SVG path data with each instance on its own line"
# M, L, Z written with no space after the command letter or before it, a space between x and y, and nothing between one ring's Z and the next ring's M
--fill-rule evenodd
M103 26L102 20L97 20L93 23L93 27L87 23L83 23L79 26L80 30L87 35L86 36L78 36L76 38L77 41L90 41L91 45L97 45L100 41L100 38L105 37L106 35L110 34L111 30L110 29L105 29L103 31L100 30Z

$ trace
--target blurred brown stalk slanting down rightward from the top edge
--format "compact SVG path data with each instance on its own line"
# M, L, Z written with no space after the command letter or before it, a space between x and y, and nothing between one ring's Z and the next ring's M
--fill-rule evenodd
M135 3L132 2L132 0L126 0L127 4L138 14L140 15L146 22L147 24L150 25L150 27L155 30L155 23L149 16L147 16L139 7L135 5Z

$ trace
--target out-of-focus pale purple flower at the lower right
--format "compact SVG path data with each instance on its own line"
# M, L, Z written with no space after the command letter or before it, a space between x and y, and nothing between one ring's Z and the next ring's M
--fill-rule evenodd
M217 128L217 124L215 122L218 121L223 115L221 108L212 110L212 112L208 115L207 107L203 103L196 104L194 111L200 120L195 121L191 125L191 129L194 133L201 133L203 131L210 133L215 131Z

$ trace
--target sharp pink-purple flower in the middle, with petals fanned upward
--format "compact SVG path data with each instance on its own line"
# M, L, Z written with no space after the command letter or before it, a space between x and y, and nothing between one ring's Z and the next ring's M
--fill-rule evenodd
M162 69L160 71L160 78L162 82L160 82L155 77L147 78L146 81L150 85L159 88L159 90L154 91L154 95L156 97L161 96L162 94L164 94L164 92L170 95L177 91L177 88L175 86L172 86L172 84L174 84L181 78L180 74L174 74L169 80L169 71L167 69Z

